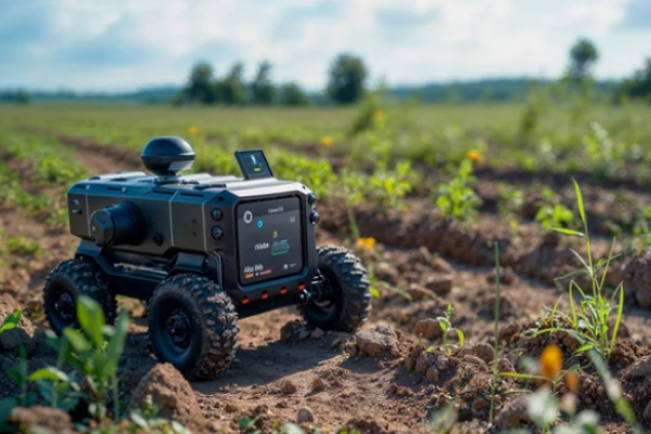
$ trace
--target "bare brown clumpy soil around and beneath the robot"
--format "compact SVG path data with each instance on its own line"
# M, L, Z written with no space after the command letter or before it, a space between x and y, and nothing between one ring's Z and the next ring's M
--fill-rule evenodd
M65 143L91 173L140 169L138 156L131 152L118 153L76 138L67 138ZM64 196L63 187L33 182L25 163L10 162L10 167L21 169L28 191ZM599 195L601 190L596 191ZM482 213L469 226L446 221L424 201L413 199L407 209L399 212L383 213L370 205L355 210L361 233L378 241L370 252L346 241L348 221L342 208L337 204L319 204L322 224L318 243L354 248L379 280L390 283L378 283L381 297L374 299L370 319L360 332L350 335L309 330L294 308L246 318L240 321L241 345L233 365L215 381L188 386L171 367L156 365L146 337L143 306L120 298L120 306L132 317L119 367L120 398L125 403L141 403L143 391L149 391L158 401L171 403L168 407L176 412L169 414L182 419L196 432L238 432L238 420L255 418L256 427L264 433L271 432L277 422L297 420L307 430L320 427L324 432L355 427L362 433L419 433L425 432L432 414L447 405L456 409L465 432L495 430L487 423L495 243L499 245L503 271L498 317L502 345L499 370L522 371L523 355L536 359L552 343L563 350L566 368L577 361L572 358L576 342L571 336L556 333L534 337L529 331L546 326L540 323L540 314L554 306L562 295L553 279L576 268L578 264L569 248L580 252L579 244L540 233L533 224L522 225L514 233L507 219L494 213ZM58 263L72 256L77 240L65 230L49 226L47 216L26 215L8 205L0 206L0 230L36 240L46 251L38 257L5 255L5 264L0 268L0 296L11 296L23 307L34 329L28 356L28 370L34 371L56 360L44 344L42 282ZM595 244L597 257L603 257L609 242L597 239ZM644 286L649 279L647 261L642 256L618 264L618 271L610 279L626 278ZM651 387L641 381L651 373L651 348L646 344L651 337L651 311L641 307L647 304L638 299L638 292L636 289L627 293L630 305L624 309L625 326L611 358L611 370L638 418L651 422ZM454 326L463 330L467 343L444 352L439 349L442 333L436 329L436 318L445 316L448 305L454 306ZM564 296L558 308L566 306ZM430 345L434 349L426 352ZM588 365L585 359L578 361ZM0 398L17 392L5 374L7 367L15 362L15 354L0 350ZM608 432L629 431L615 414L593 369L579 373L579 409L597 410ZM499 380L495 401L498 427L528 423L522 418L519 395L523 388L536 386L508 376ZM559 391L567 392L564 382ZM36 418L39 413L35 414Z

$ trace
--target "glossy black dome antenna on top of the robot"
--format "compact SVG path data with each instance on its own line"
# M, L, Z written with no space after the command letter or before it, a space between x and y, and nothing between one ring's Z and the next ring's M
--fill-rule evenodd
M194 157L190 143L174 136L152 139L140 155L144 167L163 178L176 177L179 171L189 169Z

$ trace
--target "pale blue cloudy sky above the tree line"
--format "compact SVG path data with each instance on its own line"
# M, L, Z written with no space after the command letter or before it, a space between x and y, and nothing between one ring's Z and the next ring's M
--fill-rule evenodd
M126 91L268 60L318 90L342 52L371 84L551 78L580 37L598 78L630 75L651 58L651 0L0 0L0 88Z

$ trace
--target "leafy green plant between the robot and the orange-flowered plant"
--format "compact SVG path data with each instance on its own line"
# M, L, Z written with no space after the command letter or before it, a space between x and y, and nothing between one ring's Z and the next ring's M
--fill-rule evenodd
M401 207L401 199L412 188L409 181L410 174L411 163L405 161L398 163L394 170L379 170L370 177L371 199L380 204L382 210Z

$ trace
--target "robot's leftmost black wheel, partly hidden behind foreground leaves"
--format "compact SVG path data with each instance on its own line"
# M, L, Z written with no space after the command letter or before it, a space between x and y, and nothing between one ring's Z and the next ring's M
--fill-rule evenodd
M66 327L79 327L76 302L80 295L100 304L107 324L115 322L117 301L104 272L91 261L71 259L50 272L43 288L43 310L56 334Z

